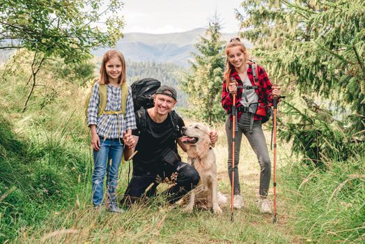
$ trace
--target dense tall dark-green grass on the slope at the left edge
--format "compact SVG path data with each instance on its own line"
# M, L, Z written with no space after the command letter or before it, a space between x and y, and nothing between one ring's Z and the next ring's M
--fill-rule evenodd
M31 138L20 137L0 117L0 196L13 189L0 201L2 242L68 206L78 178L86 181L90 174L90 157L88 148L75 147L62 133L49 135L33 128Z

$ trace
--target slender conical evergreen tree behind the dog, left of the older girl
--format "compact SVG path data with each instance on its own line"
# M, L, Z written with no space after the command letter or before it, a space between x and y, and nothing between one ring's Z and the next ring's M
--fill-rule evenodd
M189 95L189 113L208 123L221 121L224 110L221 106L222 77L224 72L224 41L222 24L215 15L209 22L205 36L195 47L192 74L183 82L183 90Z

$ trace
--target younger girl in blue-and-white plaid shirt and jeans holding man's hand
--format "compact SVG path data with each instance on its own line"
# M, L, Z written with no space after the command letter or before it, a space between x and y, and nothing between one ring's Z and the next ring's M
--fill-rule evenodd
M124 142L123 135L132 135L136 127L132 100L132 89L128 89L125 116L121 113L121 92L125 78L125 60L117 50L109 50L102 58L100 79L95 82L88 105L88 126L91 128L91 146L93 146L94 170L92 178L93 205L100 208L103 198L103 181L107 171L108 206L107 210L122 213L116 201L118 169L123 156L123 144L133 146L133 142ZM98 116L100 103L99 86L107 88L105 113Z

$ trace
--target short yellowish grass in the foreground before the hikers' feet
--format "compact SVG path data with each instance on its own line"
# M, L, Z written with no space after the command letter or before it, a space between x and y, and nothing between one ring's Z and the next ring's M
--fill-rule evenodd
M261 215L251 206L235 211L235 222L231 222L228 208L219 217L197 209L187 214L180 206L168 206L159 198L116 215L93 210L88 204L91 189L87 188L79 201L70 202L70 208L54 213L48 224L24 232L15 242L290 243L290 234L278 231L281 227L272 224L270 215ZM65 229L75 233L63 234Z

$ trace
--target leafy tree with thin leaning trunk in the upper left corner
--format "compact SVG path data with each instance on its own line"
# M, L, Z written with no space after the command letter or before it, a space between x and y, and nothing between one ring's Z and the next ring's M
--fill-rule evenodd
M122 37L120 0L0 0L0 49L26 48L33 51L31 89L36 75L50 56L65 63L91 57L91 49L114 46Z

